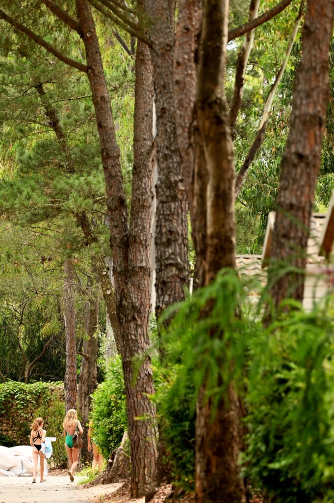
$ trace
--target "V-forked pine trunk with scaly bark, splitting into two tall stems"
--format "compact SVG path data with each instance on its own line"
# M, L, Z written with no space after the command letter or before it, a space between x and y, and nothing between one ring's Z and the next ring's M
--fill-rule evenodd
M103 75L94 21L86 0L76 0L76 6L85 44L87 74L106 182L116 306L121 329L120 350L129 422L132 460L131 493L132 497L140 497L152 489L156 473L155 408L149 399L149 395L154 393L154 387L150 360L149 357L144 356L149 345L147 327L154 151L152 145L153 97L151 92L147 91L150 89L147 84L150 82L150 60L147 57L147 49L142 47L141 51L138 44L135 100L137 108L134 127L136 146L134 148L131 228L129 229L119 147L116 143L112 110ZM144 66L143 70L140 68L141 65ZM147 100L143 93L148 93ZM138 372L135 372L135 365L138 363L136 358L142 359ZM145 419L136 420L136 417L145 417Z

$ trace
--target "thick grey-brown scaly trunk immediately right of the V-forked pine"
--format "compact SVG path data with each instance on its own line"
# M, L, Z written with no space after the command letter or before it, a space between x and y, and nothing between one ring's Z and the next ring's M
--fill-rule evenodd
M145 0L157 114L156 314L184 299L189 285L187 197L180 169L173 90L174 2Z

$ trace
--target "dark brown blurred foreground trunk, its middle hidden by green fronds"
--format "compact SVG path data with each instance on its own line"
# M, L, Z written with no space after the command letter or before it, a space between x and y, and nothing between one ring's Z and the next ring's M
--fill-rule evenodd
M195 229L201 285L211 283L222 267L235 267L235 170L224 94L228 14L228 0L204 0L193 138L195 211L205 215ZM239 407L233 383L220 399L214 418L212 400L205 392L204 382L196 405L196 500L244 503L238 465Z

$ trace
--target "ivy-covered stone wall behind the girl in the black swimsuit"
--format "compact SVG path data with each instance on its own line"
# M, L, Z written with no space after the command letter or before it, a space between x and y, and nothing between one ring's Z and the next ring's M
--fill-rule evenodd
M6 384L0 384L0 398L2 387ZM17 384L21 385L22 383ZM34 384L22 386L19 393L16 390L6 391L5 399L0 405L0 445L29 445L31 425L37 417L38 409L43 407L43 410L46 411L43 419L47 424L47 410L52 406L52 402L64 401L62 383L43 384L48 388L44 392L43 390L39 392L35 390L30 393L29 386L34 387Z

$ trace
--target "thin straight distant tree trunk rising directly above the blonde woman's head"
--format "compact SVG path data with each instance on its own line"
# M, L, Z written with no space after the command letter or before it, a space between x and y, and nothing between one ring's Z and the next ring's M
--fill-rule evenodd
M65 410L76 409L76 338L73 265L68 259L64 266L64 321L66 342Z

